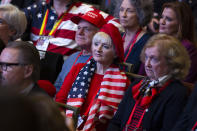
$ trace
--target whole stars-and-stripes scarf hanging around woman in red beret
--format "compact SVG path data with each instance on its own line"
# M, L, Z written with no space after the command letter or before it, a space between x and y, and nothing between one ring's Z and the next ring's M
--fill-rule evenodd
M93 71L93 66L91 66L92 65L91 63L95 63L95 61L91 59L83 67L87 69L86 73L84 72L84 69L82 68L80 71L81 76L80 76L80 73L78 74L80 78L78 78L77 76L69 92L68 100L67 100L68 105L79 107L79 108L82 107L85 101L86 95L88 93L88 88L90 86L90 82L91 82L90 77L93 76L95 69L96 69L94 68L94 71ZM81 77L82 79L85 78L83 79L83 83L86 83L86 84L78 83ZM76 86L76 84L78 84L78 86ZM84 131L89 131L93 129L95 122L105 121L113 117L115 111L118 108L120 101L122 100L124 92L127 89L127 84L128 84L128 79L126 77L126 74L124 72L121 72L117 66L112 65L106 70L103 80L101 82L100 89L98 92L95 92L97 93L97 95L89 109L89 112L86 114L87 120L85 121L85 124L83 127ZM85 85L86 87L83 85ZM84 90L84 91L83 91L83 94L79 95L79 93L76 93L76 90L79 90L79 91ZM71 116L72 112L66 111L66 114L67 116Z

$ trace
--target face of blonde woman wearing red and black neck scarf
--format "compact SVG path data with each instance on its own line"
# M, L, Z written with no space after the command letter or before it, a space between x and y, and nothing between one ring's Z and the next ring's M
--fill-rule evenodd
M145 50L144 63L146 74L151 80L157 80L159 77L169 73L166 59L160 54L157 46Z

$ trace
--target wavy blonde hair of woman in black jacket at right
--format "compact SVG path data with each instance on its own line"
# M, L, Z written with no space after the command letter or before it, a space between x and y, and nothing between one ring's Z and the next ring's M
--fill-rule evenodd
M173 79L181 80L186 77L190 68L190 57L175 37L157 34L149 39L141 52L141 60L145 61L145 50L157 46L161 56L164 56L169 67L169 74Z

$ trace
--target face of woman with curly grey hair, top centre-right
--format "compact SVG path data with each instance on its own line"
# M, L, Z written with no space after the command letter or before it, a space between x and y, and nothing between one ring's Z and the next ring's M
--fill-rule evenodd
M124 28L132 28L139 26L136 10L129 0L123 0L120 6L120 23Z

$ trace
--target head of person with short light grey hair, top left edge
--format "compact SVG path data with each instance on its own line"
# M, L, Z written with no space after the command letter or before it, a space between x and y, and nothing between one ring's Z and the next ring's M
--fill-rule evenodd
M6 45L20 38L27 26L25 14L11 4L0 5L0 21L0 38Z

